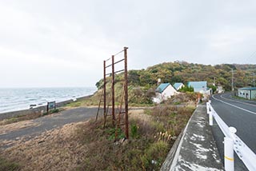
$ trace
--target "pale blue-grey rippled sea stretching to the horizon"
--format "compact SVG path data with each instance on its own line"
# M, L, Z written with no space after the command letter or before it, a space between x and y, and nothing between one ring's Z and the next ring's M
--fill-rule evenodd
M22 88L0 89L0 113L46 105L47 101L66 101L93 94L96 88Z

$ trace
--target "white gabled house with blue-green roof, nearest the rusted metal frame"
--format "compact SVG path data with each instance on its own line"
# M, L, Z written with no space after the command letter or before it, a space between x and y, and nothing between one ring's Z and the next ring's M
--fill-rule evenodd
M156 97L153 98L153 101L160 103L163 100L173 96L175 93L178 93L176 89L170 83L162 83L156 89Z

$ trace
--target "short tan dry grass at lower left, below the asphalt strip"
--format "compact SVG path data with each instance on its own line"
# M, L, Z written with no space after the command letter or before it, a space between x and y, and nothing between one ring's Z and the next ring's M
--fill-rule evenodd
M73 170L84 159L87 146L76 136L76 124L64 125L29 141L19 140L2 150L2 156L18 161L22 170Z

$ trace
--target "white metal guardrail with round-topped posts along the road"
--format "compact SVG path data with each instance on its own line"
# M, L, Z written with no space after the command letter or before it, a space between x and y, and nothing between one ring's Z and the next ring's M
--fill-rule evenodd
M213 117L218 123L222 133L224 133L224 167L225 170L234 170L234 151L250 171L256 170L255 153L235 134L236 129L226 125L222 118L218 116L210 101L206 102L207 113L209 114L209 124L213 125Z

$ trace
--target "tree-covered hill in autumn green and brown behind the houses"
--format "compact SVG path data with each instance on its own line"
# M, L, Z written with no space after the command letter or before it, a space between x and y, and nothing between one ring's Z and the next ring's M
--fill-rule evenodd
M254 72L256 65L251 64L222 64L216 66L194 64L188 62L164 62L150 66L146 70L129 70L128 78L130 85L155 86L158 78L162 82L187 82L207 81L208 85L221 85L224 89L231 89L232 70L234 71L234 88L254 85ZM122 74L117 76L121 78ZM102 80L96 83L102 87Z

